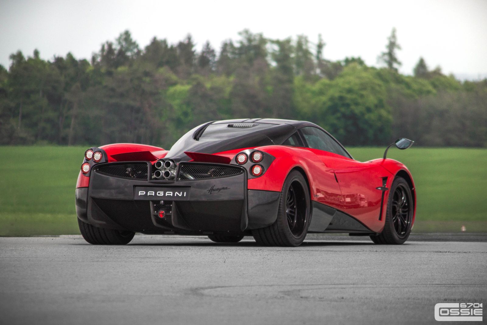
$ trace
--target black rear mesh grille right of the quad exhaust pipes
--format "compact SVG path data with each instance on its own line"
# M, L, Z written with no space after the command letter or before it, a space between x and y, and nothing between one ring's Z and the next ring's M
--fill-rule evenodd
M244 171L238 167L226 167L221 165L184 163L180 164L179 181L200 180L205 178L225 177L242 174Z

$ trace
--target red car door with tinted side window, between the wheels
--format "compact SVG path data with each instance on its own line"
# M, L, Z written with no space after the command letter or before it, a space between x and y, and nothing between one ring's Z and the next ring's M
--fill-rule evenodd
M383 186L388 172L376 163L353 160L335 139L316 127L303 127L300 132L310 150L335 172L341 191L338 209L375 228L380 223L383 200L377 187Z

